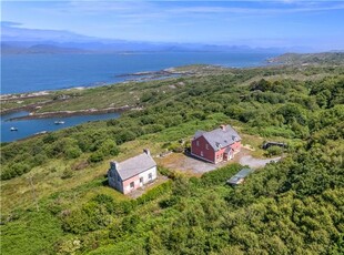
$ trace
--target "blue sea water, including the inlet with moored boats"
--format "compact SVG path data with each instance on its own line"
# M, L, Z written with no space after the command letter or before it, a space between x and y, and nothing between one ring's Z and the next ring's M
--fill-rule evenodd
M230 52L150 52L115 54L3 54L1 55L1 94L53 91L79 86L98 86L123 82L136 72L160 71L188 64L216 64L249 68L266 64L273 53ZM119 118L99 114L65 118L55 125L54 119L9 121L1 116L1 142L11 142L42 131L54 131L89 121ZM18 128L18 131L10 131Z

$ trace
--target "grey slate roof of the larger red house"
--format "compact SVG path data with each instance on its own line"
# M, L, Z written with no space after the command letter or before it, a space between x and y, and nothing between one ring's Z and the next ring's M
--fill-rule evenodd
M219 128L210 132L198 131L194 135L194 139L198 139L202 135L214 149L214 151L219 151L221 147L226 147L241 140L240 135L231 125L225 125L224 130Z

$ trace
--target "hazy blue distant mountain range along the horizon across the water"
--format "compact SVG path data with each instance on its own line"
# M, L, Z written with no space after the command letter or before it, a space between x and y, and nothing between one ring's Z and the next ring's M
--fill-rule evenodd
M1 23L1 53L114 53L114 52L252 52L284 53L283 48L250 48L247 45L125 41L87 37L63 30L20 28Z

